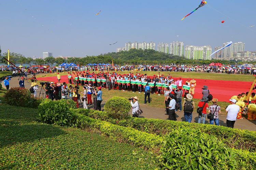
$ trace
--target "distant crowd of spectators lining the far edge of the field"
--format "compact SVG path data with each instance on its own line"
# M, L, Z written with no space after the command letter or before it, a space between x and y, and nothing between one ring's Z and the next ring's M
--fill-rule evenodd
M227 73L227 74L256 74L256 67L253 65L222 65L221 63L211 63L209 65L110 65L110 64L88 64L86 66L0 66L2 71L23 70L29 74L67 72L67 71L168 71L168 72L207 72L207 73Z

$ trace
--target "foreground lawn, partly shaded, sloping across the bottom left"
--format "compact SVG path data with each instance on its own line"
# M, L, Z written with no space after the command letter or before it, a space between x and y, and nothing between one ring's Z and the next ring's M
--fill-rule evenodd
M154 169L156 155L108 137L36 121L37 109L0 104L0 169Z

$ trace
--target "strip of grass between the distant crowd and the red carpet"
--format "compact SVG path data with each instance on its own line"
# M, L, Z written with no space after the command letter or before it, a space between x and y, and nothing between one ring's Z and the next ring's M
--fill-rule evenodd
M131 71L133 73L136 73L136 71ZM119 71L118 74L127 74L129 71ZM158 74L158 71L138 71L138 73L141 74L147 74L147 75L154 75ZM172 77L182 77L182 78L190 78L190 79L205 79L205 80L226 80L226 81L243 81L243 82L252 82L254 80L253 75L245 75L245 74L223 74L223 73L197 73L194 71L191 72L160 72L160 74L163 74L167 76L168 74L171 74ZM44 77L43 75L46 75L46 77L52 77L57 76L54 73L46 73L46 74L40 74L36 75L37 78ZM67 75L67 73L60 73L60 75Z

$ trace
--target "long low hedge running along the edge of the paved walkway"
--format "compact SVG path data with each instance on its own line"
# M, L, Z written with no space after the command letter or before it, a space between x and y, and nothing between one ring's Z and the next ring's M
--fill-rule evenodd
M108 121L120 126L130 127L142 132L148 132L156 135L165 135L177 128L190 128L201 130L203 133L213 135L222 140L230 148L256 151L256 132L231 129L225 126L216 126L210 124L187 123L180 121L132 118L118 121L108 117L106 112L93 111L89 109L73 109L71 112L80 113L91 118Z

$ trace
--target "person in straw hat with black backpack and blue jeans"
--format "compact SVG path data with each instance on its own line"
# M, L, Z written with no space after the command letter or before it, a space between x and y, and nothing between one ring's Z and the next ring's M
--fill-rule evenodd
M192 99L192 95L187 94L186 100L183 102L185 121L189 123L192 121L192 113L195 108L195 102Z

